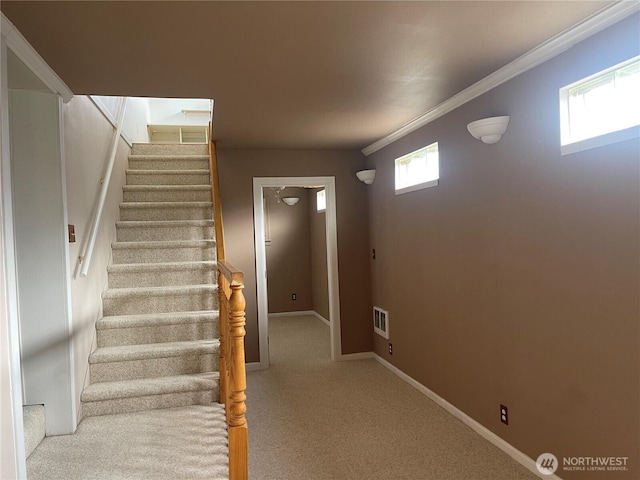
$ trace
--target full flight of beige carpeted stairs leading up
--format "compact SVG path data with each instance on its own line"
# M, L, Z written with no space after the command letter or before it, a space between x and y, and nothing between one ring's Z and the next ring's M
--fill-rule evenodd
M219 401L207 145L135 144L126 177L84 417Z

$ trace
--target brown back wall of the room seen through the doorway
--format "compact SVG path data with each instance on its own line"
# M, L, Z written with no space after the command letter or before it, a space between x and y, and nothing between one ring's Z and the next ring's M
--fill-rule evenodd
M287 187L281 197L299 197L293 206L278 202L275 191L263 190L269 225L267 286L269 313L312 309L309 195L304 188ZM291 295L296 294L296 300Z

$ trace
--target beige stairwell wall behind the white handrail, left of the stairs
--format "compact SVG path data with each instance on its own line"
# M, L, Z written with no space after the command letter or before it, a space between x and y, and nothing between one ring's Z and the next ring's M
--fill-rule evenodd
M78 257L88 240L93 210L100 194L102 177L113 128L96 106L84 96L75 96L64 106L64 142L67 174L67 210L69 223L75 225L76 243L69 245L73 313L73 349L75 357L76 405L88 380L88 358L95 348L95 322L102 315L102 292L107 288L107 264L111 242L115 239L115 222L122 201L124 170L129 147L120 139L116 164L105 202L98 239L89 274L82 278L77 269ZM79 417L80 418L80 417Z

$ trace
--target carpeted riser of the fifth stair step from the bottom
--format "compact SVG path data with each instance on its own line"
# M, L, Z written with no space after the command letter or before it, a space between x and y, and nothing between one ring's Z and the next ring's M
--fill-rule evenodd
M109 288L165 287L214 283L216 283L216 271L212 268L109 273Z

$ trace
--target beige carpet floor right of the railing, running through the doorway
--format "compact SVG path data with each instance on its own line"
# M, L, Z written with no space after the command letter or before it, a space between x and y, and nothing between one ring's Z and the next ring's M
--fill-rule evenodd
M315 317L269 323L271 368L247 375L252 480L537 478L375 360L331 362Z

